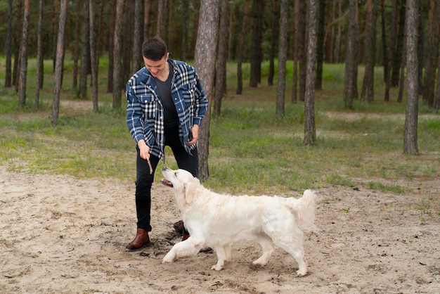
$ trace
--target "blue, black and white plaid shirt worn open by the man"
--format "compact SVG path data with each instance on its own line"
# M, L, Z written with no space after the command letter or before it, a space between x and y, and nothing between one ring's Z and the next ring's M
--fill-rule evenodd
M202 89L195 68L183 61L171 60L174 70L171 94L179 116L179 137L188 153L190 129L200 125L208 108L208 99ZM164 157L164 109L160 102L155 79L144 67L127 82L127 126L134 141L145 140L150 154Z

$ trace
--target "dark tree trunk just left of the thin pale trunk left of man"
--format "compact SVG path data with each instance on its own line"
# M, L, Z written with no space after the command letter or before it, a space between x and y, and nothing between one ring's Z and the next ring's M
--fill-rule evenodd
M79 70L79 96L87 98L87 75L89 74L90 64L90 20L89 20L89 1L84 0L83 20L81 33L81 67Z

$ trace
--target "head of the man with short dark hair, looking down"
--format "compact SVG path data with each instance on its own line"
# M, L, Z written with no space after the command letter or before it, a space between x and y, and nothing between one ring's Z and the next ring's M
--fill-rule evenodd
M153 77L160 77L167 67L167 44L159 37L148 39L142 45L142 56L145 68Z

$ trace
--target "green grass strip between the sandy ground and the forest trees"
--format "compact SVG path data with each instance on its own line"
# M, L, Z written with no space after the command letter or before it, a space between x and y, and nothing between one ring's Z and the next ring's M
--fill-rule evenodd
M29 64L32 68L34 60ZM105 80L105 63L101 66L100 80ZM263 65L264 70L267 66ZM75 103L70 65L66 68L61 99ZM235 65L229 64L228 95L221 115L212 117L210 124L210 177L205 186L250 194L285 194L330 185L406 193L410 181L437 177L439 115L427 114L425 106L420 106L420 155L403 155L405 103L396 103L397 89L392 89L391 102L383 101L380 70L376 101L355 101L354 110L344 109L343 65L325 65L324 70L325 90L316 91L315 101L317 141L314 146L304 146L304 104L290 102L291 82L287 82L285 115L277 117L276 87L262 82L257 89L245 87L242 95L235 95ZM134 181L134 141L125 124L124 98L122 110L112 110L112 96L101 85L98 99L103 106L98 113L61 106L58 125L52 127L48 119L53 98L50 60L45 71L38 111L33 110L32 84L24 108L18 106L13 89L0 90L1 165L34 174ZM32 72L28 72L28 81L35 80ZM361 71L359 76L361 79ZM0 82L4 83L4 74L0 74ZM91 95L87 101L91 106ZM167 148L166 153L167 165L175 168L172 152ZM161 177L160 167L156 179Z

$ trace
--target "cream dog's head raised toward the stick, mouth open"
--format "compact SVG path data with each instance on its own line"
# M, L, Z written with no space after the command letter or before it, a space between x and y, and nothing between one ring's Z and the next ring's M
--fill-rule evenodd
M195 190L200 187L199 179L186 170L172 170L168 167L162 169L164 179L160 182L165 186L172 187L176 196L183 196L186 203L191 203L198 193Z

